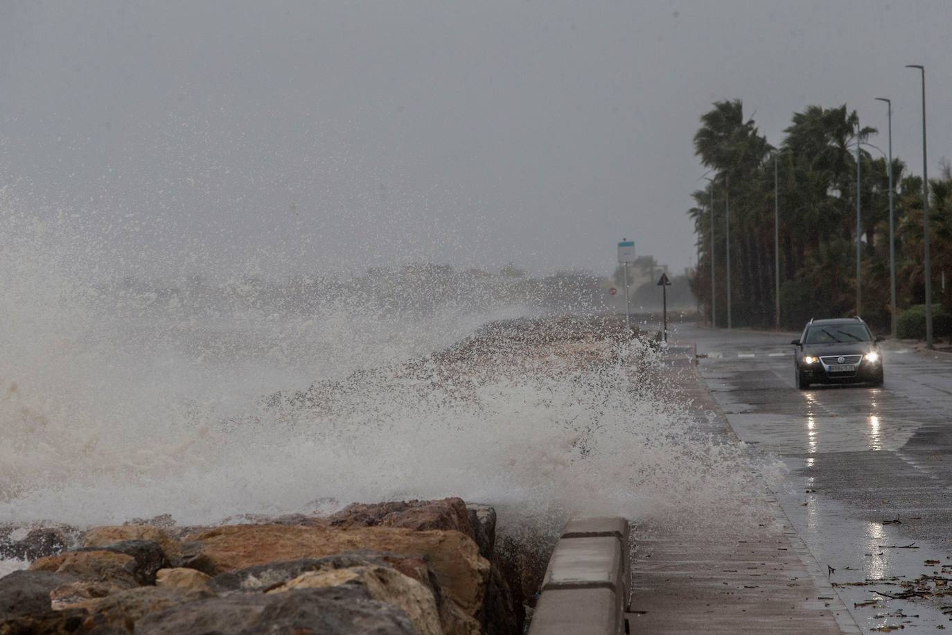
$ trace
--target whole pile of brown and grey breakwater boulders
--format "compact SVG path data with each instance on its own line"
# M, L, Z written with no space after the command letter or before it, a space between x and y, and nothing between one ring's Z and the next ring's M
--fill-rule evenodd
M97 526L72 541L56 529L29 569L0 578L0 635L523 630L524 582L499 561L491 507L449 498L257 521Z

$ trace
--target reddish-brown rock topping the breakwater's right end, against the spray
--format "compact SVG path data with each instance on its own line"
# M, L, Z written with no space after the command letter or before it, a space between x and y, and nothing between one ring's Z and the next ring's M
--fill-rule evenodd
M348 505L327 519L330 526L388 526L426 531L455 530L474 538L461 498Z

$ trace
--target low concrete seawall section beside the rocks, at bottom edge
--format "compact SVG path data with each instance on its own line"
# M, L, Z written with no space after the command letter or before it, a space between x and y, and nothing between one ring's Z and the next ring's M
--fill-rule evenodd
M545 570L528 635L621 635L631 592L630 529L621 517L570 521Z

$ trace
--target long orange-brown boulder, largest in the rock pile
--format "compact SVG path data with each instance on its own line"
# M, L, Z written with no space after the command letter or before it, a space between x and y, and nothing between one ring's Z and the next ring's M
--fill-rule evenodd
M447 595L467 615L476 616L486 596L489 563L471 538L455 530L242 525L217 527L188 540L197 543L198 555L221 573L356 549L424 555Z

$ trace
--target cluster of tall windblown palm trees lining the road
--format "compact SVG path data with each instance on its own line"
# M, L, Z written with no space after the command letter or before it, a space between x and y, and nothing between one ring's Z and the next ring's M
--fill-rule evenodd
M875 129L862 128L855 110L809 106L793 113L784 130L781 176L780 264L782 315L797 326L810 314L851 314L856 297L857 232L866 237L863 258L865 315L888 324L889 245L887 235L889 182L886 162L861 146L862 227L857 228L856 144ZM753 118L744 117L740 100L716 102L701 117L694 149L715 174L719 194L715 206L716 241L710 244L710 189L695 191L688 210L698 232L699 268L693 285L698 298L710 300L710 255L724 242L724 195L730 197L732 303L743 323L772 323L774 291L773 161ZM909 176L905 164L893 159L896 188L898 304L922 302L922 180ZM933 275L952 276L952 169L930 181ZM726 275L717 260L715 279ZM865 288L867 287L868 288ZM950 281L952 286L952 281ZM952 288L942 295L952 311ZM723 304L721 305L724 306ZM722 316L723 319L723 316Z

